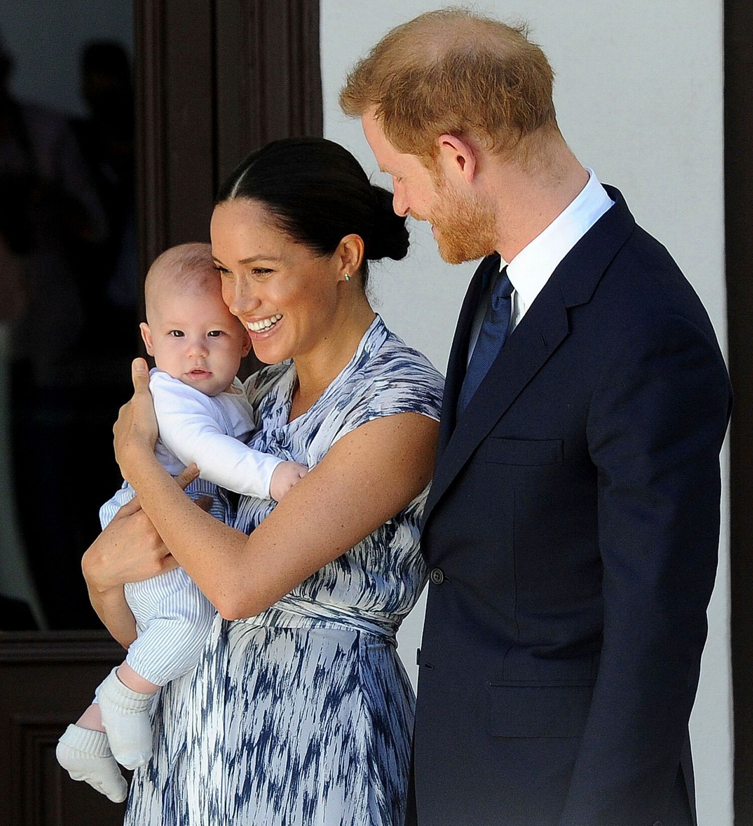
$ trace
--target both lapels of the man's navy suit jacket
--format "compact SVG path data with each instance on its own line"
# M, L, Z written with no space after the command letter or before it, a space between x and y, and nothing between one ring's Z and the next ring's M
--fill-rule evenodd
M470 319L467 316L473 316L469 306L473 292L471 282L452 344L448 366L448 385L452 375L452 387L450 392L446 390L444 396L443 421L440 425L441 450L438 452L432 487L424 506L424 526L434 506L462 470L471 453L566 339L569 332L568 308L590 301L604 270L632 234L635 221L622 195L612 187L605 188L614 201L614 206L575 244L552 273L552 277L507 339L456 425L455 408L462 376L465 374L470 329ZM478 279L474 306L481 292L481 279L478 277L482 270L483 267L480 267L474 276L474 282ZM461 331L462 340L458 340ZM461 358L462 373L457 363ZM448 422L445 422L445 418Z

